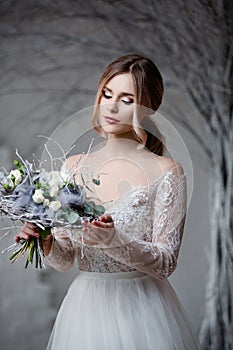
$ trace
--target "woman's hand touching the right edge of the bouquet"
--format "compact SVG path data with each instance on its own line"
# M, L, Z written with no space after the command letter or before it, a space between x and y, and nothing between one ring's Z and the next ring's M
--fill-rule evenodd
M88 236L84 243L89 246L108 246L115 234L114 222L109 214L103 214L91 223L84 222L83 232Z

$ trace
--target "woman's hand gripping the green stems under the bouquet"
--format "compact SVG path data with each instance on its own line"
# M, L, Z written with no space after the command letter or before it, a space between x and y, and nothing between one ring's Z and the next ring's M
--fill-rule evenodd
M31 236L36 238L40 237L39 233L37 232L36 225L32 222L27 221L22 226L21 230L19 231L19 234L15 236L15 241L19 243L21 239L28 240ZM45 255L48 255L50 252L52 240L52 235L48 235L45 239L42 239L42 246Z

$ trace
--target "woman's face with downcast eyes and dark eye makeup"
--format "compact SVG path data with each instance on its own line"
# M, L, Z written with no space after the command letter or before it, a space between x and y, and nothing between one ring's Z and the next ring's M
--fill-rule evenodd
M135 99L131 73L117 75L104 86L99 101L99 122L109 137L133 134Z

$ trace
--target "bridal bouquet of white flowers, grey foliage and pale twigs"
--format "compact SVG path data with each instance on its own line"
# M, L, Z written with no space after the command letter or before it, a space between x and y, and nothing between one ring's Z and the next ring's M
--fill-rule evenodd
M35 267L44 265L42 240L56 226L80 228L84 219L92 220L104 213L104 207L87 197L91 191L84 176L82 183L67 171L45 171L35 162L24 160L16 151L19 160L14 161L14 169L0 172L0 212L11 220L29 221L37 226L39 238L21 239L3 252L13 251L9 258L15 262L19 256L27 254L25 268L35 262ZM99 176L92 177L95 185L100 184Z

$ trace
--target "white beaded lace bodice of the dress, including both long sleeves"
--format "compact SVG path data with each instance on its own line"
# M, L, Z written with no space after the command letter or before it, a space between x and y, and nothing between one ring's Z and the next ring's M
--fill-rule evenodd
M178 164L149 186L133 188L119 200L105 203L115 226L108 245L82 246L81 230L55 229L47 262L63 271L77 257L80 270L139 270L167 278L176 268L186 207L186 175Z

